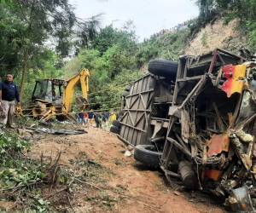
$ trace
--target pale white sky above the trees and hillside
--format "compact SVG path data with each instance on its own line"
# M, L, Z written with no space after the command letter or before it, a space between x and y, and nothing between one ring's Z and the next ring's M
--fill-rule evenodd
M140 41L198 14L195 0L69 0L79 18L102 15L102 26L122 27L132 20Z

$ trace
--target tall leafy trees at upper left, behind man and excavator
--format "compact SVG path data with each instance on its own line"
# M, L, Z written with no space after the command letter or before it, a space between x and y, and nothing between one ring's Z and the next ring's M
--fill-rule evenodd
M1 75L14 73L23 96L27 79L45 71L55 55L61 56L59 63L53 63L58 73L60 59L71 49L88 46L96 35L98 18L79 20L68 0L0 1Z

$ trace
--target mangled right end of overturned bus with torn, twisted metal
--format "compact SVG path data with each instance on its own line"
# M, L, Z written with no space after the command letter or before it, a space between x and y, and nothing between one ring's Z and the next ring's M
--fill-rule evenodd
M221 66L215 73L212 70L180 105L172 105L173 124L161 159L163 170L170 170L175 159L167 155L173 150L178 160L176 172L184 185L228 197L231 210L254 210L255 67L254 62L243 62ZM177 98L181 90L184 92L180 89ZM168 143L174 146L167 147Z

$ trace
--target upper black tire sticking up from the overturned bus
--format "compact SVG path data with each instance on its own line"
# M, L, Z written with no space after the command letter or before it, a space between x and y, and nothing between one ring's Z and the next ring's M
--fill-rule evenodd
M177 75L177 62L162 59L150 60L148 72L174 81Z

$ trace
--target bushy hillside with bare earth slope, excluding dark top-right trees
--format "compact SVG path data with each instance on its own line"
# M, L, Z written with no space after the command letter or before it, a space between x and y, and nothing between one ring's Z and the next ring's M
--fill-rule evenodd
M90 102L93 109L119 107L120 96L129 83L148 71L148 61L155 58L178 60L180 55L201 55L212 49L228 49L238 54L245 47L239 21L225 24L218 19L201 27L196 34L192 26L154 34L143 43L131 29L119 30L113 26L102 28L90 48L83 49L62 69L69 78L82 67L90 70ZM104 95L98 91L104 92ZM106 103L108 102L108 103Z

